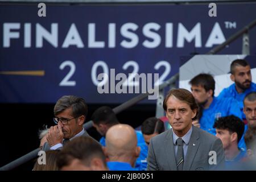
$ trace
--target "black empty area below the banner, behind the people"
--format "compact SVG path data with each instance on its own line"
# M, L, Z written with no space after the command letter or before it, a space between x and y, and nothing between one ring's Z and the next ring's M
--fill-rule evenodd
M53 126L53 107L55 104L0 104L0 167L18 159L20 156L39 147L38 130L46 124ZM102 105L88 104L90 121L93 111ZM118 105L108 105L112 108ZM137 104L117 114L121 123L127 123L134 128L141 125L144 119L155 116L156 105ZM87 130L89 135L99 140L96 129ZM15 168L14 170L31 170L34 160Z

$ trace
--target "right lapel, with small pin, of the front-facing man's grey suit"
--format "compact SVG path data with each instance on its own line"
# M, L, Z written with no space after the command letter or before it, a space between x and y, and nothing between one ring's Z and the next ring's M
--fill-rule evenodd
M199 133L197 130L198 129L192 125L192 134L189 139L188 150L187 150L187 154L185 156L185 160L184 160L184 164L183 164L184 171L188 171L191 169L191 165L193 163L193 160L196 156L196 152L200 145Z

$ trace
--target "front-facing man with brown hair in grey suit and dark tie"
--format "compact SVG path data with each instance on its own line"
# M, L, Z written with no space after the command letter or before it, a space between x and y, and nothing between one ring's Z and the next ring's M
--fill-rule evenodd
M192 126L199 107L191 92L173 89L163 108L172 129L153 137L148 147L148 170L214 170L224 168L221 140Z

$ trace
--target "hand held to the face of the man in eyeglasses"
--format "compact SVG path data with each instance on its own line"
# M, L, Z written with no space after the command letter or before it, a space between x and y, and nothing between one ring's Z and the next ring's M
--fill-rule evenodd
M58 143L62 143L63 142L63 137L64 134L62 132L62 128L61 125L55 125L55 126L51 126L51 128L49 129L46 138L47 138L47 142L49 143L49 146L55 146Z

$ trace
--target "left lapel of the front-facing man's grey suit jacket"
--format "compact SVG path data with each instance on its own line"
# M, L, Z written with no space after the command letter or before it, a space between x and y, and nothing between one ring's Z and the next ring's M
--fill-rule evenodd
M166 150L166 156L167 156L167 161L168 161L170 170L177 171L172 129L170 129L170 132L168 132L168 134L166 135L166 139L164 140L163 145Z

